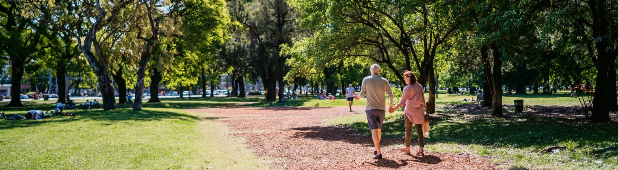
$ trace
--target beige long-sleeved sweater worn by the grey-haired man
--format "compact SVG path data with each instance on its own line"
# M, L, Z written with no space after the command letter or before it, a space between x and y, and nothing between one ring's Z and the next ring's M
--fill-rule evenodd
M386 111L386 96L384 96L384 93L388 94L389 104L392 104L393 96L388 80L379 75L370 75L363 79L358 98L367 96L365 110L381 109Z

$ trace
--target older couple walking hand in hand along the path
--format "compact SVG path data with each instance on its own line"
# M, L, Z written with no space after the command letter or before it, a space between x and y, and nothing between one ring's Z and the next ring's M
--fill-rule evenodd
M371 75L363 79L361 90L359 95L354 95L356 100L366 96L365 113L367 121L369 122L369 129L371 129L371 138L373 138L373 144L375 150L373 151L373 159L382 159L382 153L380 151L380 139L382 138L382 123L384 122L384 116L386 114L386 96L389 96L389 113L393 113L397 108L405 105L405 147L401 150L410 154L410 140L412 139L412 125L415 124L418 135L418 151L417 156L425 156L423 147L425 142L423 141L423 129L422 125L425 124L425 96L423 95L423 86L417 82L417 77L413 72L406 71L404 73L404 80L407 84L404 88L402 98L393 107L393 95L391 91L391 85L388 80L380 77L380 66L373 64L370 67Z

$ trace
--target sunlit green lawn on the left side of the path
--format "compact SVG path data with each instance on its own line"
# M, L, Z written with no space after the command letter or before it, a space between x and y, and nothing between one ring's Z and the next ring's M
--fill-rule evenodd
M177 102L145 106L185 106ZM208 104L195 102L190 104ZM70 111L75 117L2 120L0 169L265 169L266 161L231 137L226 125L211 121L221 117L120 106ZM7 113L47 107L32 104Z

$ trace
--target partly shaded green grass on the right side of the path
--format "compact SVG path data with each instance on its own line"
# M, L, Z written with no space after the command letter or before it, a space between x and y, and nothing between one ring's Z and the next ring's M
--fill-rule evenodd
M487 116L489 110L465 110L473 104L439 105L433 114L426 150L473 153L490 157L502 168L618 169L618 124L588 123L558 116ZM326 122L370 135L365 114L337 117ZM387 114L383 137L402 138L402 111ZM556 153L539 154L545 147L564 145Z

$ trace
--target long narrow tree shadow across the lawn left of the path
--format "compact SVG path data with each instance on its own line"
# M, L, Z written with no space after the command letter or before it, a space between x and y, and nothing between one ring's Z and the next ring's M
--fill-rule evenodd
M25 113L25 111L23 111ZM2 121L0 129L13 129L19 127L36 127L45 124L57 124L73 121L101 121L103 124L114 124L122 121L161 121L163 119L177 119L180 121L198 121L199 117L176 113L172 111L161 111L153 109L143 109L142 111L132 111L131 109L114 109L112 111L98 110L79 110L71 113L77 116L56 116L40 120L16 120ZM22 114L23 115L23 114ZM219 119L222 117L205 117L204 119Z

